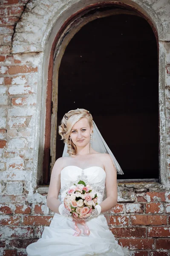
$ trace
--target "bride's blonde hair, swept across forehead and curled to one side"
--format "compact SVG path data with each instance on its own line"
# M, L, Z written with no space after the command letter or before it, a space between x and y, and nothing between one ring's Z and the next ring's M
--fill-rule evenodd
M71 140L71 148L70 148L70 133L72 130L73 125L75 125L76 122L81 120L82 118L86 117L89 121L90 128L92 127L92 115L84 108L78 108L75 110L70 110L68 113L66 113L63 116L63 119L61 120L61 125L58 126L58 133L61 135L61 140L64 141L64 143L67 143L68 150L67 153L69 155L75 155L77 153L77 148L74 143L72 143Z

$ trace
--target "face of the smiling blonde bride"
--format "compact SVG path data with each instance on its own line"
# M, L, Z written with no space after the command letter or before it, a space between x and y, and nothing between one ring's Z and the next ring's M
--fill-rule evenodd
M70 137L77 147L85 147L89 143L91 133L92 128L89 126L88 119L84 117L73 125Z

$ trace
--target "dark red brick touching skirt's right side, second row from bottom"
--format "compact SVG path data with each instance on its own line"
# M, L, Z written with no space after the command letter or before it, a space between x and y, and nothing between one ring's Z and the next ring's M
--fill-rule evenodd
M129 246L130 250L148 250L154 248L154 239L119 239L118 243L122 243L123 246Z

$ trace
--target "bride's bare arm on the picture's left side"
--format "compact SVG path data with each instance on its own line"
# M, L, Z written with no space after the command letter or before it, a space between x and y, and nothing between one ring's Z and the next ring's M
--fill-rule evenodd
M47 207L49 207L49 209L51 209L53 212L57 212L58 214L60 214L60 212L58 211L58 207L61 204L61 201L58 199L58 194L60 192L61 187L60 173L62 169L63 158L60 157L53 166L49 184L49 192L47 195Z

